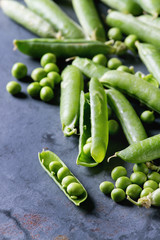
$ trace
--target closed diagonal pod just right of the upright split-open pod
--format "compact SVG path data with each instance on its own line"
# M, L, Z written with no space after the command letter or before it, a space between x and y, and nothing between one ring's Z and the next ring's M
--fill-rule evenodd
M106 90L106 94L108 103L119 119L129 144L146 139L146 131L126 97L115 89Z

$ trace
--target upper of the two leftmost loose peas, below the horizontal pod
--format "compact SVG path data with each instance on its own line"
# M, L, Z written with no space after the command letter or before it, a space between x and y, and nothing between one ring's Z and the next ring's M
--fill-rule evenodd
M11 70L12 76L17 79L22 79L27 76L27 67L23 63L15 63Z

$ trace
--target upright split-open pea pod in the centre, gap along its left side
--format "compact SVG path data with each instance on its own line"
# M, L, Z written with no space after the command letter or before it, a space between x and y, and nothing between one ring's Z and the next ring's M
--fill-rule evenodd
M84 146L91 137L90 153ZM89 93L81 92L80 141L77 164L94 167L102 162L108 146L108 109L105 91L97 78L92 78Z

